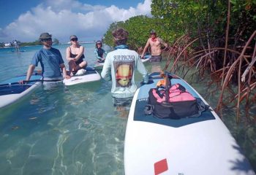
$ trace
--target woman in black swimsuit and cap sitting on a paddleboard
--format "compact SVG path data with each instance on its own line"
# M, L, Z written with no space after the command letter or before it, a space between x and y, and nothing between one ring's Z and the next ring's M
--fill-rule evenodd
M73 76L73 73L79 69L83 69L87 66L87 62L83 61L84 47L78 43L78 36L72 35L69 37L71 46L66 49L66 58L69 61L69 74Z

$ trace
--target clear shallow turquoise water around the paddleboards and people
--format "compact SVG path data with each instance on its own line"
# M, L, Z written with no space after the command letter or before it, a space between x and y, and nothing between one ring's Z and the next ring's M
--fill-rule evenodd
M85 60L93 66L94 44L83 45ZM54 47L65 58L67 45ZM39 48L22 47L20 50L26 52L20 54L0 49L0 82L26 72ZM146 68L151 70L148 63ZM137 73L138 85L141 79ZM209 104L216 104L216 98L207 98L204 85L193 87ZM129 108L119 112L113 106L110 88L111 82L104 80L70 88L39 88L23 101L0 109L0 174L124 174ZM255 134L255 128L233 123L229 118L235 115L233 109L226 109L224 114L225 124L254 162L255 149L244 130Z

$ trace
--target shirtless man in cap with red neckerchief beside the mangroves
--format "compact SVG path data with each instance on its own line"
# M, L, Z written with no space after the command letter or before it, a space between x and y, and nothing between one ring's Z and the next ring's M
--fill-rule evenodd
M146 45L141 54L141 58L144 57L146 51L148 50L148 47L150 47L151 48L150 62L152 62L152 71L161 71L161 66L160 66L160 62L162 61L161 46L163 44L165 47L168 47L168 44L163 42L162 39L160 39L157 36L156 31L151 30L150 34L151 34L151 37L146 42Z

